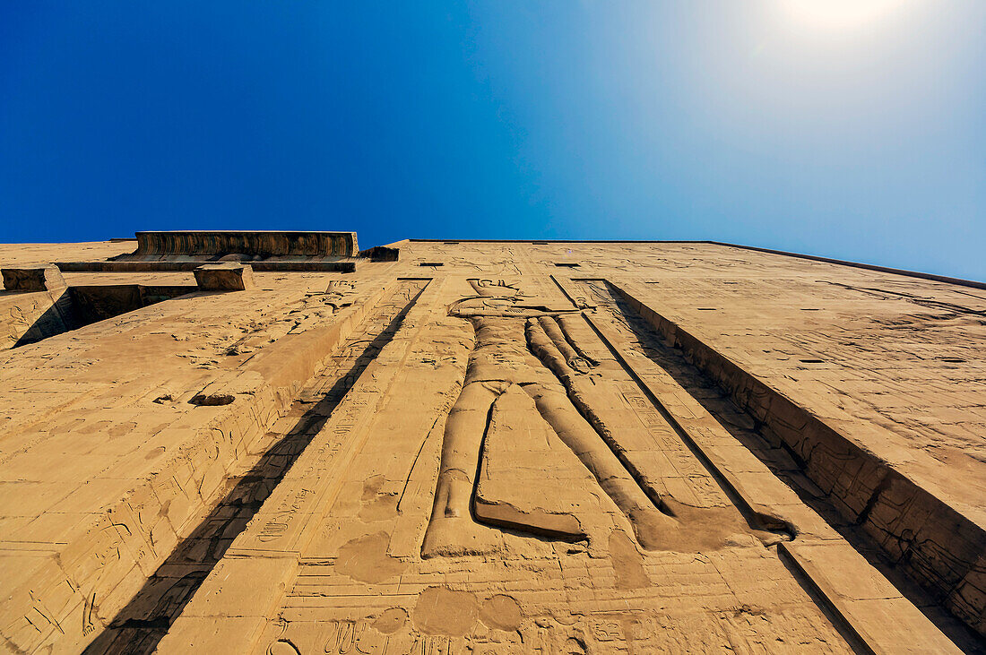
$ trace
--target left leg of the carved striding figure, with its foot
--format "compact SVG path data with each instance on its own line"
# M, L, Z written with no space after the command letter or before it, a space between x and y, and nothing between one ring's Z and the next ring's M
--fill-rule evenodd
M495 548L490 530L472 520L470 509L483 433L498 395L488 382L470 382L449 413L423 557L488 553Z

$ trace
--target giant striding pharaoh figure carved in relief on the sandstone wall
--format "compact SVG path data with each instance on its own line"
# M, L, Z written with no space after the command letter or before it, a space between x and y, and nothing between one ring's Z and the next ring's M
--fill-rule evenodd
M494 548L491 531L478 523L541 536L585 538L577 527L567 526L558 517L505 516L501 511L493 519L477 511L476 477L484 435L495 403L506 398L508 391L516 393L515 389L529 396L544 422L627 517L638 543L656 550L662 535L678 524L641 489L590 423L592 409L586 398L591 393L585 393L580 381L597 362L578 348L566 329L568 321L582 320L579 310L533 303L503 281L471 280L469 284L476 295L458 300L450 314L472 324L475 346L446 422L422 555L490 552Z

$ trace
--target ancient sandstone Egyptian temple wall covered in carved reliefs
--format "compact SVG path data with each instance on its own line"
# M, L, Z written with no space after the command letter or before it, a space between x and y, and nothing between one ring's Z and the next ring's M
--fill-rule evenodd
M0 268L2 652L986 643L981 283L347 231Z

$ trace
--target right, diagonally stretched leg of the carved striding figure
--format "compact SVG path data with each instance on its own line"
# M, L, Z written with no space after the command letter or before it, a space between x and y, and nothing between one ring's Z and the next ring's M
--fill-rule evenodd
M640 488L599 434L576 411L560 384L527 384L525 391L534 399L537 411L562 441L579 457L599 481L616 506L626 514L637 541L649 551L660 548L661 536L677 527L677 521L663 514Z

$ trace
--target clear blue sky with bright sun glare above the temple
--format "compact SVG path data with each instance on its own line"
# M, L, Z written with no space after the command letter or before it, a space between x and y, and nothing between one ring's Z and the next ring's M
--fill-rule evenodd
M2 3L0 241L136 229L716 239L983 280L986 2Z

